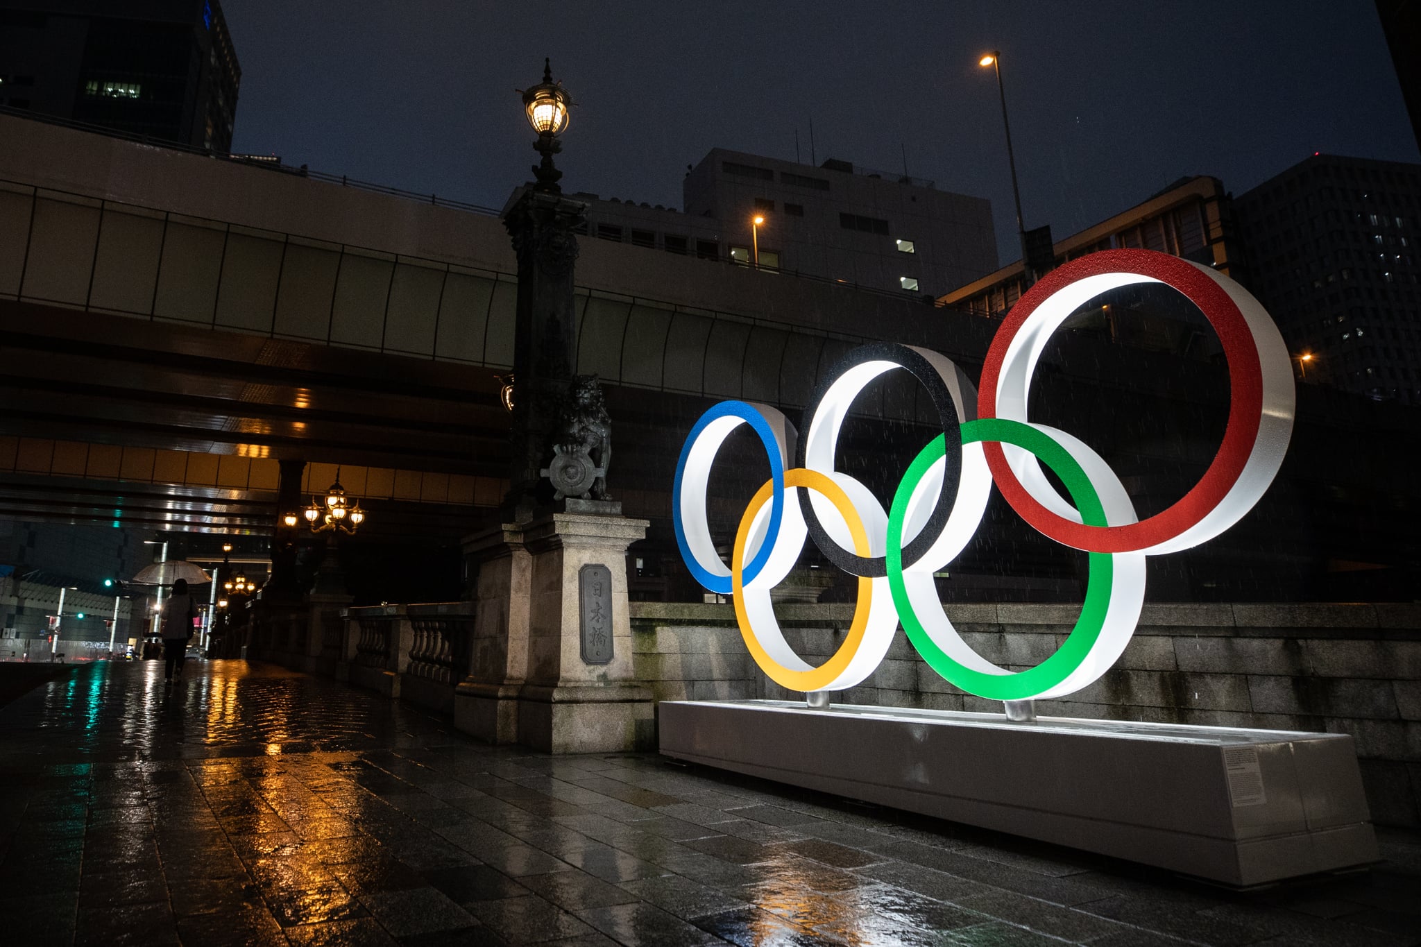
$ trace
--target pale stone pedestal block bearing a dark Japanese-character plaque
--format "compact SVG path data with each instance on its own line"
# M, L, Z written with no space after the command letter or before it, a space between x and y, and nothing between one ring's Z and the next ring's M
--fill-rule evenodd
M608 513L581 513L601 508ZM531 575L520 744L615 752L654 741L651 690L632 670L627 602L627 547L645 538L648 522L611 510L620 504L568 500L563 513L523 525Z

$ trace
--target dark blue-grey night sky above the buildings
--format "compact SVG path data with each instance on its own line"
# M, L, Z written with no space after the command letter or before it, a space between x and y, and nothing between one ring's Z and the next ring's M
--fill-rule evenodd
M233 150L500 207L536 159L514 88L576 109L567 190L681 206L710 148L908 170L992 200L1016 258L1187 175L1242 193L1313 152L1418 160L1371 0L226 0Z

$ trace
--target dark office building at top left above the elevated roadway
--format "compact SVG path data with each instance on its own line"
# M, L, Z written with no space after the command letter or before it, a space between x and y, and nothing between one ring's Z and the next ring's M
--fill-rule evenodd
M0 106L226 152L240 82L217 0L0 0Z

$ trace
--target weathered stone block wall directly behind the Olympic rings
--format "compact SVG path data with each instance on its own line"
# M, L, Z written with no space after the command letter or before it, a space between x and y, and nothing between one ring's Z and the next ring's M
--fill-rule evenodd
M851 605L783 605L786 637L811 663L844 639ZM983 657L1009 669L1053 653L1067 605L956 605ZM755 666L730 605L632 602L637 677L657 700L797 699ZM836 701L980 710L895 636L863 686ZM1039 701L1060 717L1349 733L1373 819L1421 826L1421 605L1147 605L1125 653L1098 681Z

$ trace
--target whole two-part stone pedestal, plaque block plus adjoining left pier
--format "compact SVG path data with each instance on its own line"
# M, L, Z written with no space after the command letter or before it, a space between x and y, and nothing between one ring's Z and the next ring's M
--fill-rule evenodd
M654 741L651 690L635 683L627 603L627 547L647 535L591 504L564 505L465 540L477 565L469 677L455 694L455 726L490 743L551 752L610 752ZM583 640L585 566L604 566L597 620L610 653ZM605 657L605 660L603 660Z

